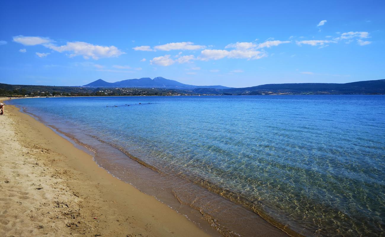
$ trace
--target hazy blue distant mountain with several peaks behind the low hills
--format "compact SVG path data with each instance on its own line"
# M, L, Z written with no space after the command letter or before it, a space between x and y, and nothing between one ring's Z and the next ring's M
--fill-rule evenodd
M117 81L117 82L106 82L102 79L96 80L94 82L91 82L87 85L84 85L83 87L110 87L110 88L116 88L116 87L136 87L136 88L169 88L169 89L183 89L183 90L192 90L195 88L215 88L215 89L230 89L232 87L226 87L226 86L194 86L194 85L187 85L183 84L178 81L169 80L163 77L155 77L154 79L151 79L149 77L142 77L139 79L128 79L123 81Z

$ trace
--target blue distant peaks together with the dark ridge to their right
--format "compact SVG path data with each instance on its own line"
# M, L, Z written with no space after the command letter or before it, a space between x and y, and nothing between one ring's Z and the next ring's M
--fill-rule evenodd
M372 81L358 81L349 83L284 83L264 84L252 87L233 88L226 86L194 86L183 84L163 77L143 77L117 82L106 82L102 79L91 82L83 87L91 88L163 88L189 90L196 94L385 94L385 79Z

